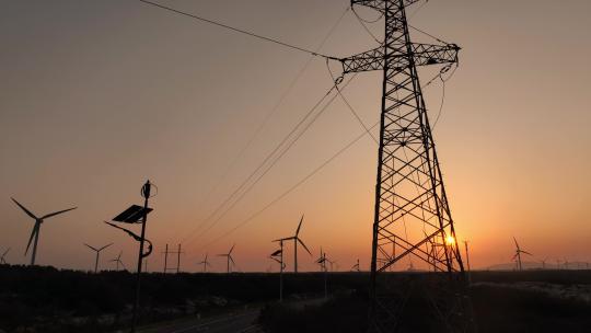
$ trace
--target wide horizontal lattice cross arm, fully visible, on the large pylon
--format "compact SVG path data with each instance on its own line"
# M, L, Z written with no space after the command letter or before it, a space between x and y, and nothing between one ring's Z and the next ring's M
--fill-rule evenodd
M457 62L460 47L455 44L433 45L433 44L412 44L413 59L415 66L427 66L437 64ZM394 59L387 59L390 64L396 64L396 67L408 67L408 55L394 55ZM361 72L384 69L384 47L380 46L364 53L360 53L347 58L339 59L343 65L343 72Z

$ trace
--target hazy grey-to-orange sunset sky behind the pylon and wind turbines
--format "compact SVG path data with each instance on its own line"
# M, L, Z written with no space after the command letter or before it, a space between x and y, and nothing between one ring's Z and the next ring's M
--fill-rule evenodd
M349 2L160 3L315 49ZM473 267L510 262L512 237L534 254L525 261L591 262L589 13L588 0L431 0L410 19L462 47L433 136ZM381 38L383 21L369 26ZM206 218L328 91L323 58L137 0L1 1L0 43L0 252L12 249L8 262L30 261L23 254L33 220L14 197L39 216L79 207L42 226L38 264L90 269L94 253L82 243L114 242L102 267L120 250L135 266L137 243L102 221L140 204L149 179L159 188L147 228L155 245L150 271L162 268L164 244L178 242L184 271L200 269L205 253L215 271L225 269L224 259L212 256L233 243L237 269L266 271L270 241L291 236L302 214L301 237L314 256L300 252L300 269L317 269L320 246L341 269L357 259L368 268L378 151L368 136L248 219L363 133L338 97L202 232L215 220ZM372 47L348 11L321 53L346 57ZM339 73L337 62L331 68ZM421 69L421 82L438 69ZM358 74L344 94L366 124L379 120L380 72ZM439 81L425 90L431 119L441 94Z

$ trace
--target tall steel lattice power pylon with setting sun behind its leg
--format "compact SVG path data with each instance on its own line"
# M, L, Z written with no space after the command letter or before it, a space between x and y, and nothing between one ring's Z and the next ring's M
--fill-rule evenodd
M436 317L429 320L437 322L437 331L468 332L464 267L417 73L418 66L457 62L460 48L410 41L405 10L418 1L351 0L351 5L383 14L384 42L340 59L345 73L383 71L369 330L401 330L403 308L417 278L401 287L402 277L396 286L385 272L410 256L433 272L422 277L419 288L429 299Z

